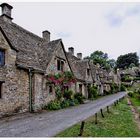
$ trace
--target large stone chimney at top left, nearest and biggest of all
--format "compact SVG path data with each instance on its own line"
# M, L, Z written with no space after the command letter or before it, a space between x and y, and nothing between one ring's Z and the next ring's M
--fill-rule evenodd
M2 8L1 17L7 22L11 22L13 19L11 17L11 12L12 12L13 7L7 3L2 3L0 6Z

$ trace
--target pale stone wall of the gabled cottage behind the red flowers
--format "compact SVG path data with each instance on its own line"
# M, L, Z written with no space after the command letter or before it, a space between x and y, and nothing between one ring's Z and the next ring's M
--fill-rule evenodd
M57 70L57 59L59 58L64 60L64 71L70 71L70 67L68 65L66 56L60 44L55 54L53 55L52 60L47 66L47 69L46 69L47 74L57 74L61 72ZM56 98L55 89L54 89L54 85L51 85L53 87L52 88L53 91L52 93L49 93L50 85L47 84L46 78L39 74L35 74L34 76L35 76L35 79L34 79L35 106L36 108L40 109L41 106L48 104L51 100L54 100ZM70 89L75 92L75 84L71 85Z

